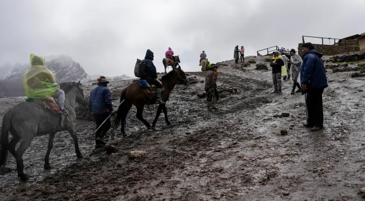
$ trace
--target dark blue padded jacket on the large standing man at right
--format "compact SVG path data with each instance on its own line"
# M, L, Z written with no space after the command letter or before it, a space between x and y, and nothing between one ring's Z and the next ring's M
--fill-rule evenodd
M307 84L308 88L327 87L327 76L321 57L322 53L316 50L309 50L302 58L301 82Z

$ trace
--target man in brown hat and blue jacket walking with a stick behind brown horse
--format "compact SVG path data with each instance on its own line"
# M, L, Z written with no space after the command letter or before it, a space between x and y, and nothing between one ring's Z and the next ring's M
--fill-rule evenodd
M112 105L112 95L107 87L108 80L104 76L98 78L98 86L90 91L89 111L93 114L96 123L96 128L108 118L109 114L114 114ZM105 134L111 127L110 118L95 134L95 148L98 148L106 143L103 140Z

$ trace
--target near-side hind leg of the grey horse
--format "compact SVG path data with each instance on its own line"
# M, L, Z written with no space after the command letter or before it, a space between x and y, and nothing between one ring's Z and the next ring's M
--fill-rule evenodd
M19 132L18 132L19 133ZM28 136L25 136L24 132L22 133L24 138L22 138L22 142L20 143L17 151L15 152L15 158L17 160L17 170L18 170L18 176L20 176L21 180L27 180L28 177L26 174L24 174L24 164L23 164L23 154L28 149L30 143L33 141L33 138L35 134L29 134Z

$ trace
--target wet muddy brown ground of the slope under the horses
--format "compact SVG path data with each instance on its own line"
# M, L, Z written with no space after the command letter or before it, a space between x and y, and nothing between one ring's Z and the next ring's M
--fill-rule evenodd
M290 95L290 80L283 81L283 94L273 94L270 67L233 65L221 63L218 86L240 90L221 98L218 111L207 112L205 99L196 96L204 83L176 85L166 105L172 125L162 114L157 130L147 130L133 107L128 136L119 136L120 128L108 133L108 143L118 149L111 155L94 149L92 121L76 122L82 159L69 134L56 135L50 170L43 169L48 137L34 139L23 157L30 179L19 180L9 155L0 172L0 200L363 200L358 191L365 187L364 78L328 70L325 129L310 132L302 126L304 96ZM115 105L129 83L110 84ZM85 94L93 88L83 87ZM22 101L0 98L0 120ZM145 108L144 118L152 123L157 107L150 110L152 115ZM273 117L281 113L290 117ZM129 160L126 154L134 150L147 155Z

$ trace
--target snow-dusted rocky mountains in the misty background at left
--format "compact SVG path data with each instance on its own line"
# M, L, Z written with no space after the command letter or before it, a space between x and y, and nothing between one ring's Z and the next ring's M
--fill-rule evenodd
M89 75L84 68L71 57L66 55L61 56L46 56L45 66L50 69L57 82L78 81L81 80L84 84L95 82L97 76ZM23 90L23 76L25 71L30 66L28 64L17 63L15 65L5 64L0 66L0 96L19 96L25 95ZM109 77L111 81L120 81L124 79L132 79L126 75Z

